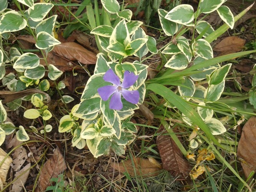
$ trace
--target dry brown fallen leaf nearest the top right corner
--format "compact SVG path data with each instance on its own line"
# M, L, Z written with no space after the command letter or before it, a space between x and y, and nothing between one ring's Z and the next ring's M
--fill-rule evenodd
M220 41L213 50L225 53L235 53L243 49L244 43L245 40L238 36L228 36Z

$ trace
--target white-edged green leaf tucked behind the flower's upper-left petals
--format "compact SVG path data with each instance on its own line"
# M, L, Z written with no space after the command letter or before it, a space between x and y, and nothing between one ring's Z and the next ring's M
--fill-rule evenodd
M104 74L105 74L105 72L97 73L97 74L92 75L88 79L88 81L85 85L85 90L81 96L81 101L98 96L98 88L99 87L103 87L105 85L112 85L111 83L104 81L104 79L103 79Z

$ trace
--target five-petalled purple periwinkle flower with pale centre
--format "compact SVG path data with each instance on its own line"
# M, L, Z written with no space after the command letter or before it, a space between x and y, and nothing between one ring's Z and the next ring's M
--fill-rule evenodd
M135 81L138 79L138 75L135 75L133 72L125 71L123 75L123 82L120 84L119 77L113 72L112 69L108 70L103 79L107 82L112 83L113 85L106 85L98 88L98 94L102 100L107 101L110 98L110 108L115 110L122 109L121 95L123 98L133 104L139 102L139 92L126 90L132 86Z

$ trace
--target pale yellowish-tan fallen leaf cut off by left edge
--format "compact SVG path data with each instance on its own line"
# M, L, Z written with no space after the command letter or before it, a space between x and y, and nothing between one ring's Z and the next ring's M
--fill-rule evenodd
M5 158L7 156L7 158ZM5 158L5 160L4 160ZM2 165L0 166L0 189L3 189L3 185L6 183L6 177L8 174L8 170L10 168L10 165L12 163L12 158L5 153L4 150L0 148L0 163Z

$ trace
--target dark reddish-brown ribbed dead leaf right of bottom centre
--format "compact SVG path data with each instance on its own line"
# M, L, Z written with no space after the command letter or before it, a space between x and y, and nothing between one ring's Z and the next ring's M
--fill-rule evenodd
M183 154L175 144L165 128L158 129L157 146L162 159L163 168L170 171L173 176L181 175L186 178L189 175L189 162L183 159Z

